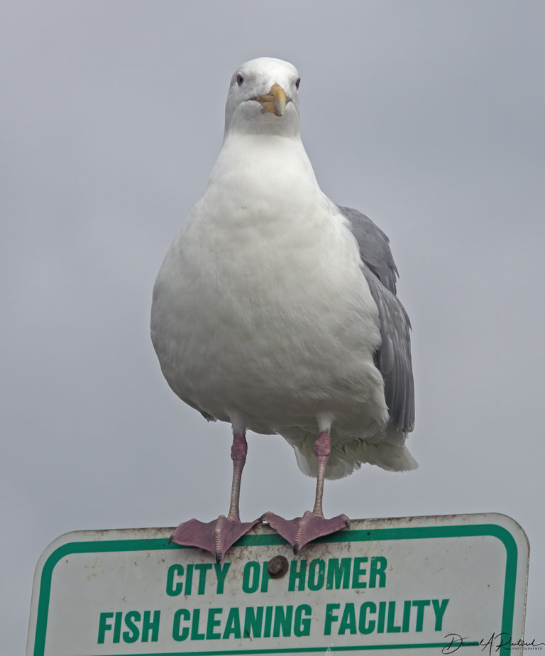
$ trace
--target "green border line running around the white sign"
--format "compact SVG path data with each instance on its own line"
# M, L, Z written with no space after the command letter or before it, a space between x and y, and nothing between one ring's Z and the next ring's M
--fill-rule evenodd
M502 607L502 633L511 635L514 616L514 593L517 581L517 542L511 533L503 526L497 524L470 524L453 526L418 526L400 528L378 528L348 530L333 535L321 537L316 542L371 542L375 540L422 540L437 537L485 537L490 535L497 537L505 546L507 562L505 564L505 584ZM244 546L272 546L285 545L287 542L280 535L245 535L236 542L237 547ZM86 542L67 542L57 547L45 561L40 579L40 596L38 599L38 614L36 618L36 633L34 641L34 656L43 656L45 653L45 633L48 625L49 598L51 591L51 579L53 569L62 558L69 554L104 553L120 551L155 551L167 549L190 549L192 547L181 547L174 543L168 543L167 538L142 538L136 540L91 540ZM450 643L421 643L409 645L360 645L349 647L291 647L290 649L243 649L231 651L206 651L206 652L161 652L138 654L128 656L224 656L241 654L287 654L305 652L350 652L364 650L389 650L389 649L424 649L430 647L446 647ZM474 643L477 644L477 643ZM505 650L511 652L511 648ZM105 655L106 656L106 655Z

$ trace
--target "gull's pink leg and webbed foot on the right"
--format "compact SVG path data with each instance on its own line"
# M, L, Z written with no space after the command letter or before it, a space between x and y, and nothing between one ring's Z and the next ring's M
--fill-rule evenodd
M330 453L331 433L329 430L323 430L314 442L314 454L316 454L318 461L318 476L316 477L316 500L314 501L312 513L307 510L302 517L296 517L292 520L285 520L280 515L275 515L275 513L265 513L263 515L262 519L290 542L296 554L307 542L316 540L316 537L329 535L341 530L341 528L350 527L350 521L346 515L337 515L334 518L326 519L321 508L321 500L324 496L324 476Z

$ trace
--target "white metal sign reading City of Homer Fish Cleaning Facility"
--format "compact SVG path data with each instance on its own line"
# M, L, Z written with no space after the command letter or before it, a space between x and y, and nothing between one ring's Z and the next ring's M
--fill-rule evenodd
M505 515L353 520L297 556L258 525L219 564L170 532L57 538L27 656L521 653L529 546Z

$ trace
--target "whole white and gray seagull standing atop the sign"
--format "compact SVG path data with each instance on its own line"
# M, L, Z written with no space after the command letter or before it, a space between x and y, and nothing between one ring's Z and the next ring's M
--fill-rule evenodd
M387 236L321 191L299 133L290 63L233 73L224 141L208 185L153 289L151 336L170 388L231 424L228 515L181 523L171 540L216 560L261 520L292 544L349 526L324 518L324 479L370 463L415 469L410 322ZM316 477L314 508L241 522L246 432L280 434Z

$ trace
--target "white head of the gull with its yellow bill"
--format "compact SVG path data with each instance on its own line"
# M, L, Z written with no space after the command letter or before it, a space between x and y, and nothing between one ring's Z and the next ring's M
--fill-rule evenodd
M225 133L299 135L299 82L289 62L270 57L239 66L231 77Z

